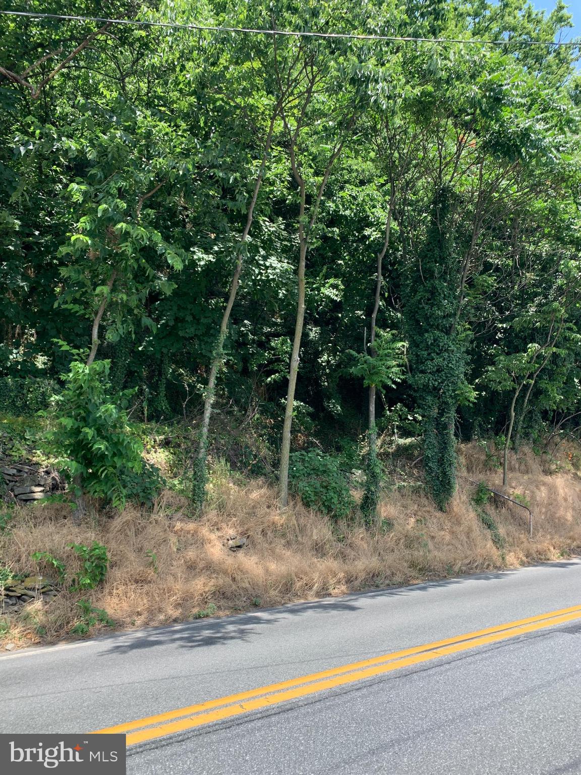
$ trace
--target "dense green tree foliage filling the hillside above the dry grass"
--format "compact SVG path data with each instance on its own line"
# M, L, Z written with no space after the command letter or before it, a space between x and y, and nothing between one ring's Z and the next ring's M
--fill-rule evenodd
M0 15L0 412L60 391L78 487L117 504L136 488L129 401L133 418L191 426L198 505L229 415L270 449L265 473L282 460L282 502L289 452L316 445L340 470L366 459L368 520L390 449L378 438L423 439L445 508L455 439L507 452L576 433L581 81L577 50L548 45L570 26L563 5L73 0L67 13L506 41ZM312 455L291 459L326 460Z

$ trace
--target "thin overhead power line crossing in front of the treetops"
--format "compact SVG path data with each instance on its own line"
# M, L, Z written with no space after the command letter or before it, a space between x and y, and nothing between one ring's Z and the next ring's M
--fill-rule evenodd
M252 35L283 35L301 38L342 38L346 40L387 40L392 43L463 43L476 46L555 46L581 47L581 42L574 40L462 40L461 38L414 38L392 35L356 35L355 33L311 33L295 32L289 29L253 29L249 27L222 27L203 24L177 24L175 22L147 22L137 19L107 19L105 16L73 16L57 13L34 13L29 11L0 11L0 15L29 16L33 19L61 19L74 22L99 22L101 24L129 24L146 27L168 27L171 29L188 29L201 32L217 33L247 33Z

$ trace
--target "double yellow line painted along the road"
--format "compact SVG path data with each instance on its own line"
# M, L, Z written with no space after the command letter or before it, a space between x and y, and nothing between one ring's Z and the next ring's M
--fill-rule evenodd
M94 734L125 733L127 745L133 746L138 742L173 735L175 732L184 732L224 718L232 718L259 708L268 708L281 702L317 694L319 691L390 673L391 670L399 670L401 667L435 660L438 656L474 649L476 646L514 638L527 632L535 632L579 618L581 618L581 605L562 608L560 611L519 619L517 622L469 632L456 638L438 640L426 643L424 646L414 646L411 649L376 656L371 660L335 667L333 670L323 670L321 673L311 673L311 675L281 681L280 684L270 684L260 689L243 691L218 700L179 708L176 711L140 718L138 721L98 729Z

